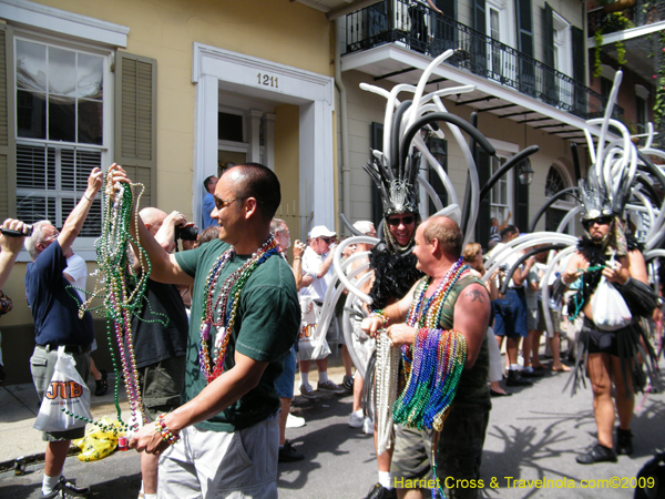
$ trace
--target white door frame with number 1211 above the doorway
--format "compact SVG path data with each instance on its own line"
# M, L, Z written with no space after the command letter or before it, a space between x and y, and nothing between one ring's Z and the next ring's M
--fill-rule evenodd
M299 105L300 234L335 227L334 79L298 68L194 43L195 92L192 213L201 217L203 181L217 172L218 90ZM282 179L285 182L286 179ZM316 208L314 200L316 200Z

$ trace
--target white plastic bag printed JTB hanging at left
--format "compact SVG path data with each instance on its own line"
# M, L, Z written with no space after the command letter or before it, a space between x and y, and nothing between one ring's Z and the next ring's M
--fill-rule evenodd
M65 409L70 415L65 414ZM58 347L55 370L44 394L33 428L42 431L68 431L85 426L90 414L90 389L76 371L74 358Z

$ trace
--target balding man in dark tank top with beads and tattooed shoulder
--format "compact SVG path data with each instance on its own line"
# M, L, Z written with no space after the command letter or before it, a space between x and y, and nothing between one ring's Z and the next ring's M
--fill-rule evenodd
M362 328L376 336L386 323L390 324L388 335L392 345L406 345L411 355L415 355L416 334L426 327L430 330L428 334L432 329L454 330L464 337L466 363L439 436L437 478L441 488L448 489L448 497L475 498L483 488L480 464L491 409L485 340L490 296L480 279L461 265L462 242L460 227L451 218L426 220L416 231L413 248L417 268L427 274L424 281L419 281L402 299L387 306L381 314L366 318ZM405 324L408 314L413 326ZM426 349L420 353L437 355ZM391 467L398 497L405 497L409 489L411 493L413 489L419 490L421 497L429 493L424 489L433 478L431 442L431 431L398 427Z

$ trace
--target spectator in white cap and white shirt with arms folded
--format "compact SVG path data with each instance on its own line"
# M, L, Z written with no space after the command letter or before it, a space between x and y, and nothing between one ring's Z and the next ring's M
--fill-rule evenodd
M323 302L328 291L328 286L332 283L332 253L335 246L332 245L332 238L336 236L335 232L328 230L325 225L315 226L309 233L311 243L305 249L303 255L303 271L311 276L313 283L308 286L307 291L311 296L311 303L317 308L317 316L320 314L323 308ZM317 324L318 327L323 327L323 324ZM328 328L328 338L335 338L337 335L337 320L332 318ZM328 358L315 360L318 370L318 385L319 391L328 391L334 394L344 394L345 389L337 386L331 379L328 379ZM311 367L311 360L300 359L300 395L306 398L314 397L314 389L309 385L309 369Z

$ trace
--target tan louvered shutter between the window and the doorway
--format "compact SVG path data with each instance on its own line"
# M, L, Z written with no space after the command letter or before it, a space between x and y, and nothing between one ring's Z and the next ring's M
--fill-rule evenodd
M115 163L144 185L139 207L156 206L157 61L116 52Z

